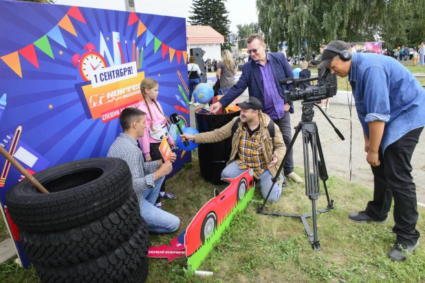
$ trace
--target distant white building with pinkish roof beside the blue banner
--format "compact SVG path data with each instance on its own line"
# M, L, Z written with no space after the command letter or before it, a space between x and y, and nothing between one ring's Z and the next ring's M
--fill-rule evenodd
M220 44L224 43L224 36L219 34L209 25L186 25L186 36L188 38L188 56L190 48L201 48L204 50L204 61L221 60Z

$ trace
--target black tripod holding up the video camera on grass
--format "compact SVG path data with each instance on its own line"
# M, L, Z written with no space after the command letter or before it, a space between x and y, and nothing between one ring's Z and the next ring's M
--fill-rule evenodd
M295 128L294 137L292 138L289 148L286 149L285 157L283 157L283 161L281 163L281 166L279 167L279 170L276 173L276 176L272 179L273 183L272 183L272 186L270 187L268 195L266 196L264 200L264 203L262 205L259 204L258 213L274 215L274 216L287 216L287 217L301 218L301 221L303 221L303 225L307 233L307 236L309 237L309 240L312 243L312 248L314 249L314 251L320 251L320 241L317 236L316 216L317 214L329 212L329 210L334 209L334 200L331 200L329 198L329 192L327 190L326 181L329 177L327 175L325 159L323 157L322 145L320 144L318 128L316 126L316 122L313 121L313 117L314 117L313 106L317 106L318 109L320 109L320 111L323 113L323 115L325 115L326 119L329 121L331 126L334 127L334 130L336 131L340 139L344 140L345 138L342 136L340 131L338 131L338 128L336 128L336 126L331 122L331 120L329 120L329 117L327 117L326 113L320 108L320 106L318 106L318 104L316 104L315 102L301 102L301 104L303 104L303 114L301 115L301 122L299 122L299 124ZM292 150L296 137L298 137L298 134L300 132L303 133L305 194L309 197L309 200L312 201L312 212L307 214L285 214L280 212L266 212L264 211L265 203L267 202L268 197L270 196L270 193L272 192L272 188L274 187L274 184L281 176L281 172L283 170L283 164L285 163L290 151ZM312 163L313 163L312 172L310 171L309 144L312 148ZM327 207L323 210L316 210L316 201L318 199L318 196L320 196L319 177L323 181L323 188L325 188L325 193L327 198ZM307 223L307 218L309 217L313 218L313 232Z

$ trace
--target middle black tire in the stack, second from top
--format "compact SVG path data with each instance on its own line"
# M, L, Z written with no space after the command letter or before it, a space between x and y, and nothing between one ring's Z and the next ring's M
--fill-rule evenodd
M21 243L23 251L35 264L45 267L78 264L98 258L127 242L140 218L138 199L133 192L118 210L99 220L63 231L21 231Z

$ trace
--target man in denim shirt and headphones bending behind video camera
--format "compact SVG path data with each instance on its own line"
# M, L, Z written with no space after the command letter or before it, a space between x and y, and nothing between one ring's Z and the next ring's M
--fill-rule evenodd
M375 183L373 201L349 218L358 223L383 223L394 198L397 242L389 257L403 261L419 244L411 158L425 126L425 90L411 71L393 58L350 54L343 41L328 46L331 48L323 52L318 69L327 67L341 78L349 76Z

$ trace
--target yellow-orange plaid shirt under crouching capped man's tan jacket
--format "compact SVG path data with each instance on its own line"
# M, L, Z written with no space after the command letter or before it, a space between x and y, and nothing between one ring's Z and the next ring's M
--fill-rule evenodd
M239 169L252 169L256 179L259 179L267 169L267 162L265 162L261 147L261 135L261 127L251 137L247 128L243 127L243 133L239 140L237 165Z

